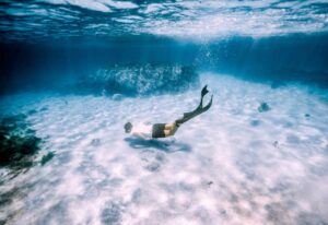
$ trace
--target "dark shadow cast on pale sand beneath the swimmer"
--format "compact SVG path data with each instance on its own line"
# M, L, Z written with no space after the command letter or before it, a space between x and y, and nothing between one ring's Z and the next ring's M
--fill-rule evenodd
M173 152L191 152L191 146L186 143L176 142L173 140L143 140L138 138L126 138L126 142L133 149L156 149L166 153Z

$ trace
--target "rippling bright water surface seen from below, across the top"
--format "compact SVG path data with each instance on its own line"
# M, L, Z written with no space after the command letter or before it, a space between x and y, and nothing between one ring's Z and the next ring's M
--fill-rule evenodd
M39 2L46 2L47 8ZM326 33L328 31L326 3L325 0L184 0L157 3L115 0L38 0L34 4L13 2L9 8L1 9L0 7L0 12L3 11L4 15L20 19L10 20L11 27L2 26L3 33L10 29L10 34L13 34L9 35L9 38L15 37L13 32L16 29L20 34L28 27L26 31L31 32L26 33L26 36L36 36L32 31L44 33L45 27L50 25L57 27L57 23L70 22L68 27L60 26L60 29L55 31L51 36L75 36L80 33L81 25L94 25L93 29L86 31L87 35L153 34L208 42L234 35L267 37L294 33ZM77 7L95 12L89 13ZM58 13L54 13L55 11ZM50 12L52 16L49 21ZM77 13L81 15L74 17ZM107 23L110 28L96 26L99 20ZM110 24L110 21L116 23ZM3 23L5 24L5 21ZM34 23L39 23L39 27ZM77 25L77 28L72 28L72 25ZM44 35L48 34L44 33ZM17 35L17 38L20 36Z

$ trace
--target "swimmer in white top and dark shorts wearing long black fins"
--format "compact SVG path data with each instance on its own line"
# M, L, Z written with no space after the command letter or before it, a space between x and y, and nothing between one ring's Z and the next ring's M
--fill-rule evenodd
M211 96L209 104L202 107L202 98L209 93L207 86L208 85L201 90L201 97L198 107L192 111L185 112L183 118L177 119L172 123L140 123L138 126L132 126L131 122L127 122L125 125L126 133L131 133L132 135L141 139L159 139L174 135L180 125L209 110L212 105L213 95Z

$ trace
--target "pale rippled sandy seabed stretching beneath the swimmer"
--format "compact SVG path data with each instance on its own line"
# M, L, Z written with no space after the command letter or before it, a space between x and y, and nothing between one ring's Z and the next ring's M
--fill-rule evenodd
M328 92L202 74L212 108L175 138L144 141L126 121L169 122L199 92L141 98L20 94L1 115L27 117L46 165L5 179L8 224L328 224ZM269 111L259 112L266 102Z

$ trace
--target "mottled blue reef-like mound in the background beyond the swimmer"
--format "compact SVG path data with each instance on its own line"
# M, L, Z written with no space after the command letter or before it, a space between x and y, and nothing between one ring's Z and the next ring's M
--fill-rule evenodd
M148 95L178 92L198 84L199 76L192 66L115 66L99 69L95 74L82 76L66 92L80 94Z

